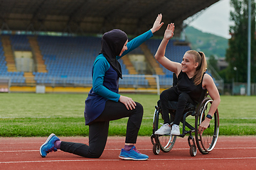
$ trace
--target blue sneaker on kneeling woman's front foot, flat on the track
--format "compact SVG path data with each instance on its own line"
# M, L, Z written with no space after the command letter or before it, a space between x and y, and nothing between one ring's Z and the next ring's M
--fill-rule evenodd
M136 147L132 147L129 151L121 149L120 159L125 159L125 160L134 160L134 161L144 161L149 159L149 156L146 154L142 154L139 151L137 151Z

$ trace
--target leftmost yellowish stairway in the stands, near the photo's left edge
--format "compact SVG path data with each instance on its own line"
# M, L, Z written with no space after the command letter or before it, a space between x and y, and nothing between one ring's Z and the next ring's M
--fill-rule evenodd
M6 57L6 66L8 72L17 72L14 55L11 50L11 40L9 36L1 36L1 41L4 49L4 56Z

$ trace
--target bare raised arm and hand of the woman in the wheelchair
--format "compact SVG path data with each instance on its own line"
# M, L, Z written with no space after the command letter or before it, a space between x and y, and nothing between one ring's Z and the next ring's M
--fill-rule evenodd
M166 31L164 33L164 38L159 45L158 50L156 51L155 58L156 60L164 66L166 69L169 69L171 72L174 72L178 75L181 72L181 63L172 62L167 57L165 57L166 46L169 40L174 36L174 23L168 24Z

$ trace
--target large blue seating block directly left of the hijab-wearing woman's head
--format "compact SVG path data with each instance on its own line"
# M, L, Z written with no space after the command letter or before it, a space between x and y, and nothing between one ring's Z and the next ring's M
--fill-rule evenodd
M58 78L67 79L68 83L91 84L91 79L72 81L69 78L91 77L92 64L100 49L100 38L38 36L38 45L48 72L35 72L36 80L45 77L46 83Z

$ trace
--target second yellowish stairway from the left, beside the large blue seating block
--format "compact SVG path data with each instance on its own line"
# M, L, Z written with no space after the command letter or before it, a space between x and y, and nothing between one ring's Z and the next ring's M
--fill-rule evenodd
M34 55L36 58L37 72L47 72L46 64L43 60L43 55L41 55L41 50L39 48L36 37L28 37L28 42L30 43L31 48L34 51Z

